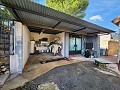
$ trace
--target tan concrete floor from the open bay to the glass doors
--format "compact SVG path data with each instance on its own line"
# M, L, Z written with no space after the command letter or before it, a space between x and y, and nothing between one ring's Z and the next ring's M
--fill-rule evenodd
M34 58L32 58L32 57L34 57ZM61 60L61 61L55 61L55 62L41 64L40 60L41 60L41 58L44 60L43 57L46 58L47 56L46 55L45 56L43 56L43 55L30 56L26 66L23 70L23 73L16 76L13 79L8 80L4 84L4 86L1 90L9 90L9 89L17 88L19 86L23 86L26 82L29 82L29 81L45 74L46 72L54 69L55 67L78 63L78 62L82 62L82 61L93 61L92 59L84 58L81 55L73 55L73 56L70 56L69 60ZM50 56L50 58L51 57L55 58L55 56ZM50 59L50 58L48 58L48 59Z

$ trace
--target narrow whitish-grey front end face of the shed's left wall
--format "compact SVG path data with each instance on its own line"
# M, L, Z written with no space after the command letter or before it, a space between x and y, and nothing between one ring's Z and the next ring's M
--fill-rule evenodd
M22 23L15 22L14 26L14 55L10 55L10 72L22 73Z

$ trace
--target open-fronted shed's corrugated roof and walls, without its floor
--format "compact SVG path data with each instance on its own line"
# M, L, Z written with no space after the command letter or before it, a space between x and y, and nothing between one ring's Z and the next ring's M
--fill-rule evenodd
M86 49L92 48L99 57L99 35L114 32L30 0L0 0L0 5L5 6L14 16L11 19L14 21L15 33L14 54L10 55L11 73L22 73L30 56L33 33L37 33L33 36L52 35L51 40L60 37L62 57L69 57L70 52L84 55ZM35 43L39 39L34 40Z

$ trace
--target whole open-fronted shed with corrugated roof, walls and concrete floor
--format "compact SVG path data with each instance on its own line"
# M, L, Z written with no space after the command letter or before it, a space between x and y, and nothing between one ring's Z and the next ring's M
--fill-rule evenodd
M95 25L93 23L78 19L65 13L53 10L43 5L33 3L30 0L0 0L0 5L5 6L14 16L14 32L15 32L15 47L14 54L10 55L10 73L20 73L21 75L12 78L4 85L6 90L16 88L19 85L40 76L49 70L72 63L81 61L92 61L89 58L84 58L86 49L94 48L97 51L97 57L100 56L99 51L99 35L109 34L114 32L107 28ZM34 33L34 35L33 35ZM62 56L53 56L48 53L40 53L38 55L30 55L30 42L38 43L38 38L34 36L50 36L49 42L54 37L60 37L62 44ZM35 40L33 38L35 38ZM51 38L52 37L52 38ZM44 37L43 37L44 38ZM72 51L75 51L77 46L80 46L78 56L72 55L70 59L62 59L57 62L41 64L40 61L64 58L70 55L70 40L75 39ZM76 44L77 40L79 43ZM49 43L48 42L48 43ZM34 45L33 45L34 46ZM90 47L89 47L90 46ZM34 48L34 47L33 47ZM16 83L21 80L21 82ZM14 84L15 86L11 86Z

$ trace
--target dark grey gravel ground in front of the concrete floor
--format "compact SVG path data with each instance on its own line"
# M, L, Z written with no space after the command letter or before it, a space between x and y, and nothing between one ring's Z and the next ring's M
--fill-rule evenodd
M99 72L93 62L82 62L54 68L15 90L37 90L39 85L55 83L60 90L120 90L120 77ZM42 89L52 90L52 89Z

